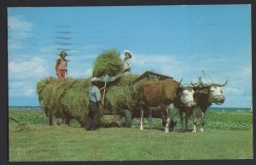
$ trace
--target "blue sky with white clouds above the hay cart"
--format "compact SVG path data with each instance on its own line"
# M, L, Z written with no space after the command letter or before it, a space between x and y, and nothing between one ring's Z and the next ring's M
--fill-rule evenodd
M252 105L250 5L8 8L9 105L39 105L36 85L56 77L58 48L69 49L68 77L90 77L103 50L123 59L128 49L134 73L183 83L202 70L216 83L228 76L221 106Z

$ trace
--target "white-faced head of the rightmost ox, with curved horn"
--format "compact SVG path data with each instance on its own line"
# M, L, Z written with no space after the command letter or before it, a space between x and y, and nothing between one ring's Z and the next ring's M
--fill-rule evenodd
M215 103L217 105L222 105L224 103L225 97L221 87L224 87L228 83L228 79L224 84L211 83L209 85L209 98L208 102Z

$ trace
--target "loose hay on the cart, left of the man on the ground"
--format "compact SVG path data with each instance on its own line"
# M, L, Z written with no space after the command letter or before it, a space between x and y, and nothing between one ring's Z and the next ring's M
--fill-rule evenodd
M88 104L90 80L65 78L58 81L54 77L41 80L37 85L38 99L47 116L65 115L77 119L84 126Z

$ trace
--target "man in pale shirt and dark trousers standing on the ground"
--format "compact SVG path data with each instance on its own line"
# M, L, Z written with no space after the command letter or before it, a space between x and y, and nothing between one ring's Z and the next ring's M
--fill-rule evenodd
M100 128L99 103L101 103L101 93L100 89L97 87L97 82L99 80L100 79L97 77L92 77L90 79L91 86L89 88L89 113L87 117L85 131L96 130L97 128Z

